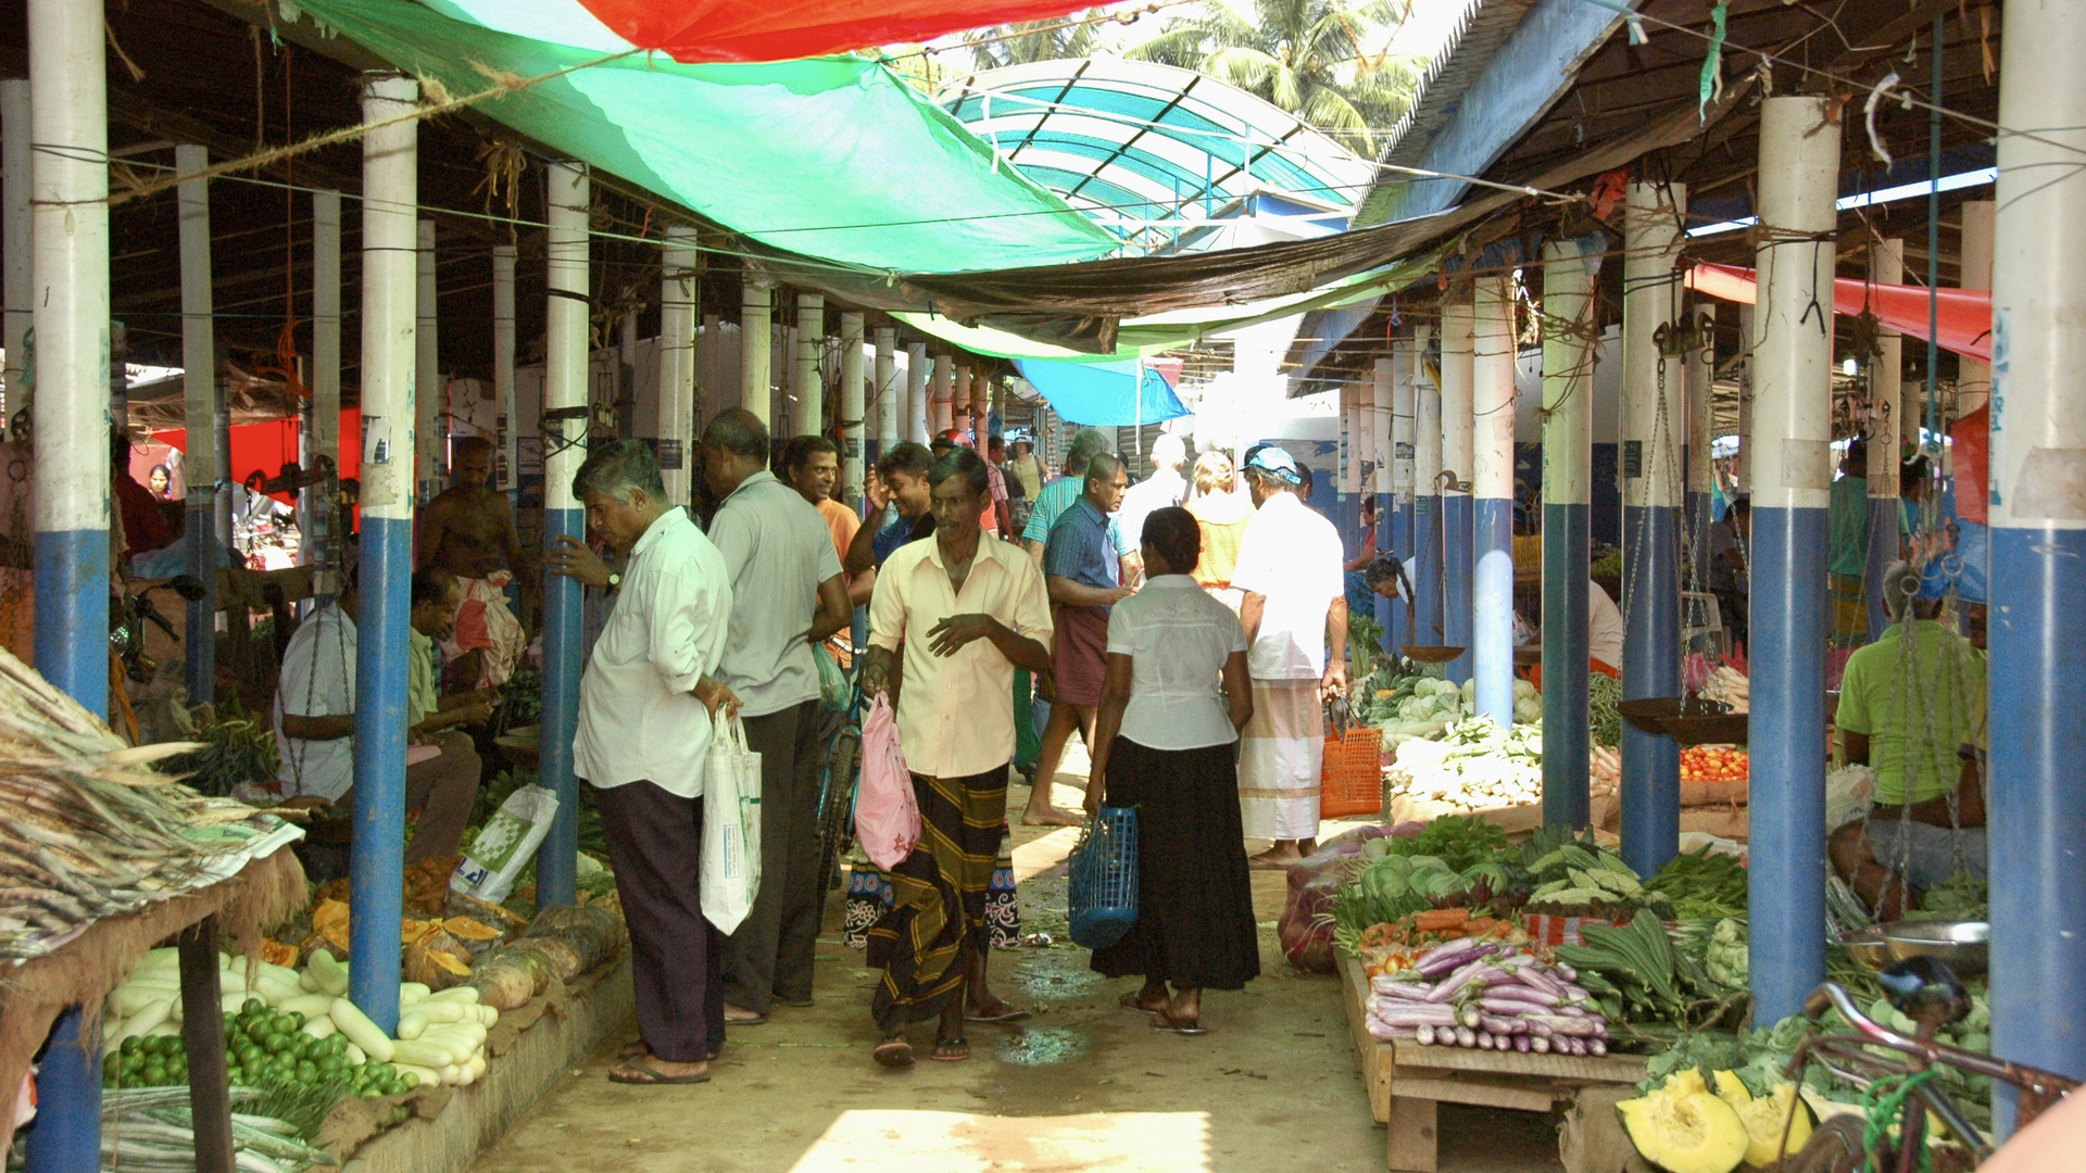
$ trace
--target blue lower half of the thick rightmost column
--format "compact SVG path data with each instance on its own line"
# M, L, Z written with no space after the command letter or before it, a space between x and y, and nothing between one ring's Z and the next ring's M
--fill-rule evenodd
M1754 522L1758 524L1758 522ZM2086 1077L2086 530L1992 528L1992 1054ZM1758 687L1754 687L1758 693ZM2003 1085L1998 1085L2003 1087ZM2011 1090L2000 1092L2007 1125Z

